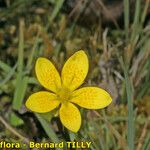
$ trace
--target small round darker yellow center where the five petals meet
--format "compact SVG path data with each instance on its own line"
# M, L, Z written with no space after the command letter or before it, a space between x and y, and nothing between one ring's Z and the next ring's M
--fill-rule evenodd
M70 95L71 95L70 90L66 88L61 88L57 92L58 100L62 103L66 103L67 101L69 101Z

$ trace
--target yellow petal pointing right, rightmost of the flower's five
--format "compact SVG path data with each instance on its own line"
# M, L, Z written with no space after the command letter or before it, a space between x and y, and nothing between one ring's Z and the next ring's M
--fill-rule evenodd
M85 87L72 93L73 103L88 109L100 109L108 106L112 98L103 89L97 87Z

